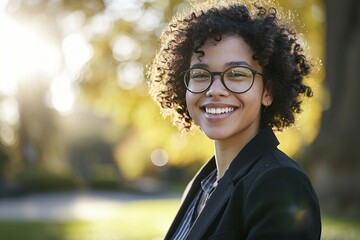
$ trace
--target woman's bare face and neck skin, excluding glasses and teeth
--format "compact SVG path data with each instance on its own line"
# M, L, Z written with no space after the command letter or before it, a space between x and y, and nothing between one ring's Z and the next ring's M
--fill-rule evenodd
M201 66L209 71L225 71L233 65L245 65L259 73L262 68L252 56L250 46L241 36L224 35L217 42L208 40L201 50L203 57L194 53L190 66ZM231 161L258 133L261 106L272 103L270 92L264 87L262 76L256 74L249 91L236 94L225 88L220 76L215 76L208 91L200 94L186 92L186 104L190 116L202 131L214 140L218 178L221 178ZM234 108L222 114L210 114L205 108Z

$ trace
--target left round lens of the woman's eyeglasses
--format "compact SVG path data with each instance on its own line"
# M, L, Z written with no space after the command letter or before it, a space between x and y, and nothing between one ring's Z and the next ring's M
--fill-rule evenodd
M194 93L205 91L211 84L210 73L201 68L189 69L185 73L184 79L187 89Z

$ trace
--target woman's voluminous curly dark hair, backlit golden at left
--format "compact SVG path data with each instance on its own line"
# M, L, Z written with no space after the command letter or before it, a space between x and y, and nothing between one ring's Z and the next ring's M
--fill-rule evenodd
M254 51L253 59L263 69L264 84L273 96L272 104L262 112L260 127L283 130L295 122L303 97L312 89L303 83L311 64L298 43L296 32L275 7L253 3L251 6L201 6L190 13L175 16L161 36L161 47L149 67L150 94L165 116L171 116L181 130L194 126L186 107L181 73L190 66L193 53L208 39L221 40L225 34L241 36Z

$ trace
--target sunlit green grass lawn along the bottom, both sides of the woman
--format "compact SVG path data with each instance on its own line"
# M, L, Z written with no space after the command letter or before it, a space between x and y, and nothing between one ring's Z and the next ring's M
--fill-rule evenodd
M73 222L0 222L2 240L158 240L177 210L178 200L136 201L121 206L118 218ZM360 219L323 218L323 240L360 239Z

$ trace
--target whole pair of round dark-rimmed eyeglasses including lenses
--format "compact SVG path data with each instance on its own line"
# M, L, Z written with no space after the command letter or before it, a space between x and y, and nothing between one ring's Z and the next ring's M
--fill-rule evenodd
M184 83L192 93L203 93L207 91L214 77L219 75L222 84L233 93L244 93L254 84L255 75L263 76L261 73L246 66L235 66L226 69L224 72L210 72L203 68L190 68L184 73Z

